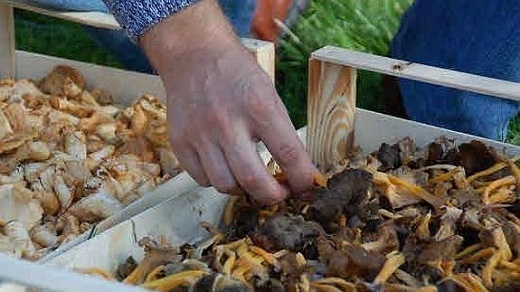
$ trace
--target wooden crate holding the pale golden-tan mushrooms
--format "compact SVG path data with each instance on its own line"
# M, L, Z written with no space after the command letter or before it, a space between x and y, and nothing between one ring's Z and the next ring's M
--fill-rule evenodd
M114 96L116 103L129 106L146 93L153 94L165 102L166 94L158 76L15 50L14 9L33 11L99 28L120 29L113 16L104 13L59 12L33 7L24 1L0 0L0 79L39 80L47 75L56 65L68 65L77 69L85 77L89 88L107 90ZM274 82L274 44L254 39L242 39L241 41ZM130 204L120 214L99 223L95 226L95 230L86 232L76 240L60 246L43 260L52 258L83 242L93 234L100 233L147 208L155 206L172 196L194 189L197 186L197 183L187 173L183 172L158 186L153 192Z

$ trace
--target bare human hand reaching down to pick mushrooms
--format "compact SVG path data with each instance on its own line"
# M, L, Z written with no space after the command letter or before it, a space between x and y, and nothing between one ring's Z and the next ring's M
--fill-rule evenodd
M200 185L223 193L240 186L263 204L312 187L317 170L283 103L215 1L170 16L141 44L168 94L173 150ZM284 170L290 189L269 175L258 141Z

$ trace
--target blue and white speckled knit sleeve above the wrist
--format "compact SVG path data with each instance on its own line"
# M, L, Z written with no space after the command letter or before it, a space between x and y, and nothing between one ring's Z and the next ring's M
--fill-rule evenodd
M198 0L103 0L126 33L136 41L149 28Z

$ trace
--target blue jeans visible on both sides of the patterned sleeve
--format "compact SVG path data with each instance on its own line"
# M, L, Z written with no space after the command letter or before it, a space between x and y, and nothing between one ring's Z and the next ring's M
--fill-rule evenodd
M31 0L31 2L41 7L58 10L109 12L101 0ZM256 0L219 0L219 3L237 34L240 37L247 37ZM94 27L85 27L85 30L126 69L143 73L154 72L141 49L134 45L122 31Z

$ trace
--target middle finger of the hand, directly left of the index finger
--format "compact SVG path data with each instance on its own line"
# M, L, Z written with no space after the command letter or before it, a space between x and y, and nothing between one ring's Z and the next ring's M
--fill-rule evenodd
M269 174L248 132L236 133L233 141L221 143L227 142L224 155L240 186L260 204L272 205L283 201L289 190Z

